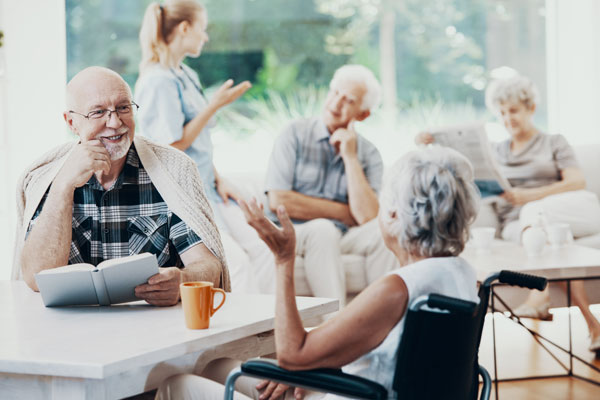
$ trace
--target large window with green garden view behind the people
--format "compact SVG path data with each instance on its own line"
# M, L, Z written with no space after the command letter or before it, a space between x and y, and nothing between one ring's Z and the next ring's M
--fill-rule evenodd
M346 63L370 67L383 84L382 107L359 130L387 163L429 126L492 120L484 90L508 68L537 83L542 101L536 122L547 126L543 0L203 3L210 42L187 63L209 92L230 77L253 83L241 101L219 114L215 157L225 171L263 169L274 135L292 118L319 113L333 71ZM67 0L68 77L104 65L133 86L137 35L148 4Z

